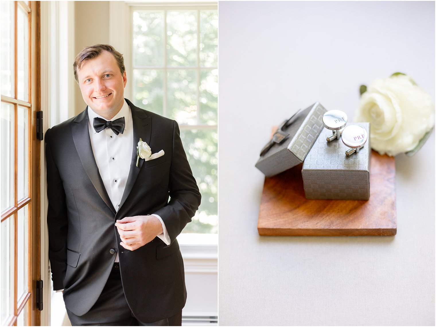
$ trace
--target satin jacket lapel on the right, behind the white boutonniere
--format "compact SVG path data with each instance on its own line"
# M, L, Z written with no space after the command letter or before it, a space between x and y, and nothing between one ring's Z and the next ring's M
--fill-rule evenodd
M148 117L145 110L140 109L134 106L129 100L127 103L130 106L130 110L132 111L132 121L133 121L133 149L132 149L132 161L130 162L130 171L129 177L127 178L126 188L124 189L123 197L121 198L121 202L119 203L120 211L127 197L133 189L133 185L135 185L136 178L141 170L141 167L144 163L144 159L139 159L138 167L136 167L136 159L138 155L136 154L136 147L138 146L139 139L142 138L144 142L150 144L151 138L151 117Z

